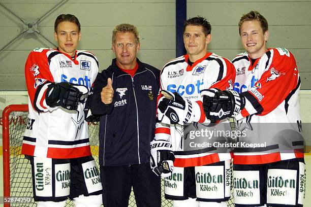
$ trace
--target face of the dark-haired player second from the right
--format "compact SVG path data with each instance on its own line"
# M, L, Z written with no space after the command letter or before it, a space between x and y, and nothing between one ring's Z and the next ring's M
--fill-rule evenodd
M188 25L183 32L183 44L193 62L206 54L210 41L211 35L205 36L203 26Z

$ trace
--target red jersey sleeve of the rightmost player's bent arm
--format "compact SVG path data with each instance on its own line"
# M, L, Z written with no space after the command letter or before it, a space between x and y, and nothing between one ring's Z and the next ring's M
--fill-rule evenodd
M269 70L262 74L254 87L242 93L246 100L245 108L238 114L237 120L252 114L264 116L298 90L300 78L293 54L289 51L280 54L277 49L273 53Z

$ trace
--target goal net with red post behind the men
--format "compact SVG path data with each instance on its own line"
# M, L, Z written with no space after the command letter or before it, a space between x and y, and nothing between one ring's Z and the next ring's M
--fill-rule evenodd
M28 106L10 105L3 111L3 181L4 197L33 197L32 169L30 162L21 154L21 146L24 130L27 125ZM98 164L99 155L99 124L89 123L89 141L91 152ZM162 181L162 205L173 206L173 201L164 198L164 187ZM29 203L12 202L4 206L37 206L34 199ZM67 200L66 206L74 206L71 200ZM136 206L135 196L131 192L129 206ZM232 198L228 206L234 207Z

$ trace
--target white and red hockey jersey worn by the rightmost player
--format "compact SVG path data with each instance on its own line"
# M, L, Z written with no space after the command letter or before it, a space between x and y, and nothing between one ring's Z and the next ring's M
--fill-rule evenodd
M266 143L265 147L256 149L235 149L233 163L263 164L303 157L302 140L290 140L291 151L280 153L279 144L286 141L286 135L279 141L276 141L279 134L274 130L269 131L268 136L263 135L264 130L269 128L268 124L271 127L286 126L291 131L297 131L297 134L301 132L298 101L300 78L293 54L284 48L268 49L251 64L245 52L237 55L232 63L236 69L233 89L242 93L246 100L245 108L236 116L236 128L246 126L248 132L256 134L252 136L255 139L252 142ZM253 126L256 126L257 131ZM281 128L277 130L279 132ZM239 142L242 141L241 138Z

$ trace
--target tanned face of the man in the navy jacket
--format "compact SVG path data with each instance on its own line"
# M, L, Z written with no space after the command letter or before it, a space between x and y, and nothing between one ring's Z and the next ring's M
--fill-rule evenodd
M123 69L132 69L136 66L136 53L140 44L135 42L132 32L117 32L112 50L115 53L116 64Z

